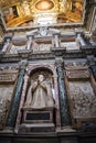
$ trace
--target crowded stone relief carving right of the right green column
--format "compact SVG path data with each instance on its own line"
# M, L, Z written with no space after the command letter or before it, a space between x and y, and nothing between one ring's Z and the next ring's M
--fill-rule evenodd
M70 94L75 118L96 117L96 96L89 81L70 82Z

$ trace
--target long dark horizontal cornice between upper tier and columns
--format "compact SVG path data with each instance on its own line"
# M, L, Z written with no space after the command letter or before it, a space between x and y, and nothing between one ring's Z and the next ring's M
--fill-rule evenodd
M28 59L28 61L49 61L49 59L55 59L55 57L62 56L64 59L71 59L71 58L86 58L87 55L96 55L96 47L95 48L82 48L81 50L74 50L74 51L65 51L62 53L62 55L56 55L54 52L47 52L47 53L22 53L23 56L19 54L2 54L2 57L0 58L0 63L9 63L9 62L20 62L21 59Z

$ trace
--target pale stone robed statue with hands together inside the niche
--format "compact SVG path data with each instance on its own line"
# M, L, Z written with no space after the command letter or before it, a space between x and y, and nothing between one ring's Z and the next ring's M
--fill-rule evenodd
M43 75L39 75L38 81L31 84L24 107L33 109L54 107L52 89Z

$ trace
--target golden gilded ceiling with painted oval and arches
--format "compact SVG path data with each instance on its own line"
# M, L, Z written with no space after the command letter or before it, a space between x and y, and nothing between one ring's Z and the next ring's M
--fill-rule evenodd
M85 0L0 0L7 28L79 23Z

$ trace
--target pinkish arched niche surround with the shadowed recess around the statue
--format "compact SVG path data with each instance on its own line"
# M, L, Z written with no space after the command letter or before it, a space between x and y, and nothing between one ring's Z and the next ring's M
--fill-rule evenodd
M54 90L54 102L55 102L55 114L54 114L54 124L56 128L61 127L60 119L60 105L58 105L58 89L57 89L57 75L54 65L33 65L26 68L26 74L24 76L23 91L21 95L21 102L19 108L19 113L17 118L15 132L20 132L22 127L22 108L25 105L25 100L28 97L29 88L31 86L31 80L35 81L39 75L44 76L44 80L51 84L52 90ZM20 121L21 118L21 121Z

